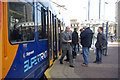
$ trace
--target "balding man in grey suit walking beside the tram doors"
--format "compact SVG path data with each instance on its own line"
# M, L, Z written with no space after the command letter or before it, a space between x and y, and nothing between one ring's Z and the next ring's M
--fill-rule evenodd
M73 65L73 58L72 58L72 34L70 33L70 27L66 27L66 30L61 34L61 40L62 40L62 56L60 58L60 64L63 64L63 59L67 54L69 55L69 66L74 67Z

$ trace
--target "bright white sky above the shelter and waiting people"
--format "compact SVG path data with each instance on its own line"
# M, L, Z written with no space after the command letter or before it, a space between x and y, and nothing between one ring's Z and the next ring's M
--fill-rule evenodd
M65 25L70 25L70 19L78 19L78 22L88 19L88 0L52 0L60 5L65 5L67 10L56 8L61 12ZM115 2L117 0L101 0L101 19L115 21ZM107 2L108 4L105 4ZM104 17L105 16L105 17ZM90 19L99 19L99 0L90 0Z

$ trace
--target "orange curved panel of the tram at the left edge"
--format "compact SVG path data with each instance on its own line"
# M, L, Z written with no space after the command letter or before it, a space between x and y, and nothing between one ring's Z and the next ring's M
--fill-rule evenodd
M8 22L7 22L7 2L2 3L2 78L7 75L18 45L12 46L8 40Z

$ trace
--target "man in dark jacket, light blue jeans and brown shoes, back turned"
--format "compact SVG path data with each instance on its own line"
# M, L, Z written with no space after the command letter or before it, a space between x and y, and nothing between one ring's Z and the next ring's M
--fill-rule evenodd
M83 26L84 31L81 33L81 45L82 45L82 53L84 58L84 63L82 64L83 67L88 67L89 64L89 49L92 44L93 32L92 30L87 27Z

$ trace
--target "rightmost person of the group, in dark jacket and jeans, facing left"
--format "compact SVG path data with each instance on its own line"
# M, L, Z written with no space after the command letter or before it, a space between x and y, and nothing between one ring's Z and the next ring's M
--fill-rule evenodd
M104 34L102 33L103 28L99 27L98 28L98 34L97 34L97 42L95 44L96 47L96 60L93 63L102 63L102 54L103 50L106 49L106 39Z

